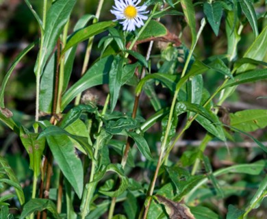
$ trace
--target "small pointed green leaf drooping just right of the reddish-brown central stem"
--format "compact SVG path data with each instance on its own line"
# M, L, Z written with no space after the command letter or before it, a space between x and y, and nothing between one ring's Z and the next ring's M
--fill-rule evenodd
M136 146L138 147L140 153L142 153L142 155L144 155L144 157L146 157L148 160L152 161L153 157L149 149L149 144L147 144L147 141L144 139L144 137L133 131L127 131L127 133L136 142Z

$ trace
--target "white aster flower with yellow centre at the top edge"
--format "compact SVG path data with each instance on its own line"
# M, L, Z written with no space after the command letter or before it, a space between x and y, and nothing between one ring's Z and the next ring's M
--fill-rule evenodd
M141 0L114 0L114 10L110 10L116 16L116 20L123 25L123 30L134 31L136 27L144 25L143 20L147 20L147 5L137 6Z

